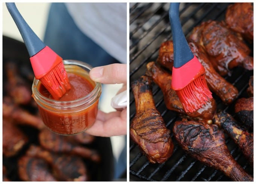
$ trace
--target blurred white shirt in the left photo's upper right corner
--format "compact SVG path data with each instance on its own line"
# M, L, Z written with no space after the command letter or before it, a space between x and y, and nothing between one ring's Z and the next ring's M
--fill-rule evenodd
M112 57L126 63L126 3L65 3L78 28Z

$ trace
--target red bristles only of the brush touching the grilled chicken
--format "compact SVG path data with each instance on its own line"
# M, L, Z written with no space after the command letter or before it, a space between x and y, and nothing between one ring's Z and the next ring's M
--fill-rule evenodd
M185 112L195 112L212 99L204 75L190 82L186 87L176 91Z

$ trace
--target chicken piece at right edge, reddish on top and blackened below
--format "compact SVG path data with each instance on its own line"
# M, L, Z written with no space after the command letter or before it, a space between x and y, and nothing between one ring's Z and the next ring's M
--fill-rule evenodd
M245 127L253 130L253 97L238 99L235 104L235 113Z

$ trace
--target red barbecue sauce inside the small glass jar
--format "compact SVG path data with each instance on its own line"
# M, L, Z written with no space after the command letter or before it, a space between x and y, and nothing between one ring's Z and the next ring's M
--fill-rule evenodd
M67 91L66 94L64 94L58 100L58 102L79 99L86 96L93 90L93 84L91 84L91 82L86 78L74 73L67 74L69 77L71 89ZM49 99L53 99L49 91L47 91L41 83L39 84L38 90L43 96ZM38 105L38 108L40 110L40 115L44 124L50 130L62 135L73 135L80 133L88 127L92 126L96 120L98 102L99 100L97 100L91 106L85 106L84 109L80 109L77 112L61 112L61 110L56 112L52 111L49 107L42 108L40 105ZM70 111L73 110L74 109L70 109Z

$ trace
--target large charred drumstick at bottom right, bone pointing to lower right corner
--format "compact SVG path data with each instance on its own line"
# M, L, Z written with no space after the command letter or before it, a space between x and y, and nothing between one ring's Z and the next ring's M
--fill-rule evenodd
M224 132L217 125L183 119L175 122L173 132L178 144L190 156L223 172L233 181L253 181L230 154Z

